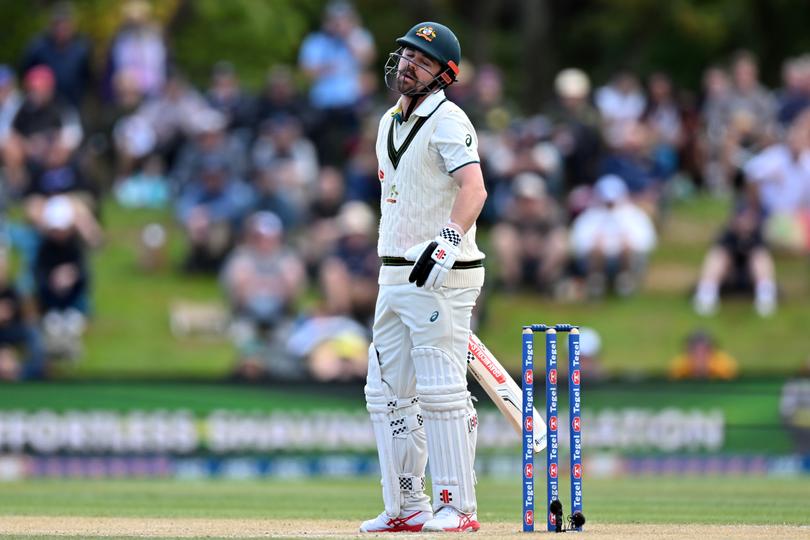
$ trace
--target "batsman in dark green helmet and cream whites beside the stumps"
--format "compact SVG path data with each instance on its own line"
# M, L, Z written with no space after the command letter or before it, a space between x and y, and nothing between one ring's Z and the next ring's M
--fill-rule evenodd
M444 93L458 76L458 39L424 22L396 44L385 83L400 98L377 133L382 267L365 386L385 511L360 530L476 531L466 352L484 283L475 220L487 193L475 130Z

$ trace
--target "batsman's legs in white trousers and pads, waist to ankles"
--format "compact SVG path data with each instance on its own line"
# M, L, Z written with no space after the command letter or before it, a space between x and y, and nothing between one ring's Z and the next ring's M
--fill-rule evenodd
M470 319L480 288L381 285L369 351L366 403L375 426L386 512L475 513L478 417L467 390Z

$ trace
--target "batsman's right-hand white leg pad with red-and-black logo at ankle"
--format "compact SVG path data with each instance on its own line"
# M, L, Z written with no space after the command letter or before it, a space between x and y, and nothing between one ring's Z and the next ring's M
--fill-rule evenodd
M416 347L411 354L427 431L433 508L475 512L478 416L467 391L466 366L434 347Z

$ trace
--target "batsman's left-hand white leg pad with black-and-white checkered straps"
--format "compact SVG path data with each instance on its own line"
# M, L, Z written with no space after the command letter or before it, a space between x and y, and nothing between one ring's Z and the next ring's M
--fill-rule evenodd
M416 396L399 398L382 381L377 351L369 347L366 408L371 415L382 473L385 513L403 509L430 511L425 495L427 442Z

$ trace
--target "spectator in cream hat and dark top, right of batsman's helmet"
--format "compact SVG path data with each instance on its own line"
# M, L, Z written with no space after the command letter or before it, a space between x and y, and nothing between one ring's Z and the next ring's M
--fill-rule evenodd
M560 71L554 79L554 90L557 101L549 110L554 125L552 141L563 158L564 187L570 192L596 181L603 146L601 119L589 101L591 82L582 70Z

